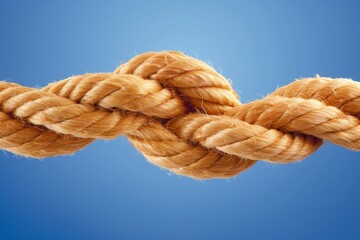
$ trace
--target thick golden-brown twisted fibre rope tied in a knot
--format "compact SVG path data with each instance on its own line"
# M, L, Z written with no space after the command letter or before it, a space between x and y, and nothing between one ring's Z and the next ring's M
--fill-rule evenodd
M179 52L42 89L0 82L0 148L44 158L125 135L152 163L226 178L257 160L289 163L331 141L360 150L360 83L307 78L241 104L226 78Z

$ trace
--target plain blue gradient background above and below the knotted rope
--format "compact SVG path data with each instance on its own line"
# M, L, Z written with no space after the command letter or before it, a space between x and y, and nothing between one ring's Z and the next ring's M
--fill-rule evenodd
M243 102L296 78L360 80L356 1L0 1L0 79L42 87L180 50ZM326 144L198 181L124 137L38 161L0 152L0 239L360 239L360 153Z

